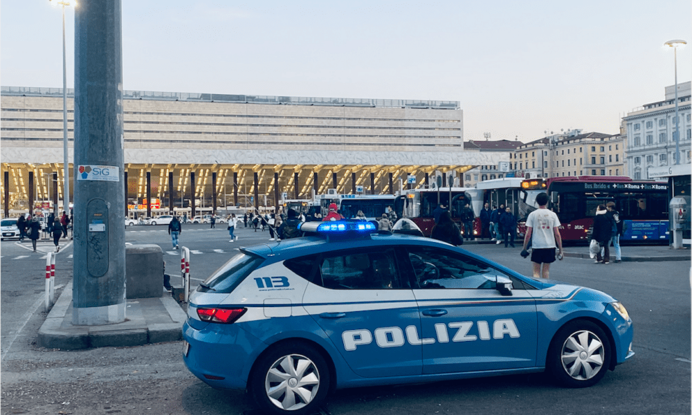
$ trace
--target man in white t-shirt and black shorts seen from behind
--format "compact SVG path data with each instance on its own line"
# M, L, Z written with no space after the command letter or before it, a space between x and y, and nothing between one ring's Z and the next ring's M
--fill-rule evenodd
M536 196L538 209L529 213L526 219L526 236L524 248L531 241L531 262L534 264L534 278L549 279L550 264L555 261L555 248L558 249L558 259L563 259L562 239L560 237L560 219L552 210L547 210L548 195L540 193ZM541 270L543 265L543 270Z

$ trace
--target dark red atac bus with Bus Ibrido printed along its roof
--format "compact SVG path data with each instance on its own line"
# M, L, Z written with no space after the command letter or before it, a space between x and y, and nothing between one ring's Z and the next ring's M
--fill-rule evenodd
M620 241L668 241L668 183L633 181L626 176L571 176L522 181L520 234L526 216L538 208L536 195L546 192L547 208L560 219L563 241L588 241L599 204L615 203L623 223Z

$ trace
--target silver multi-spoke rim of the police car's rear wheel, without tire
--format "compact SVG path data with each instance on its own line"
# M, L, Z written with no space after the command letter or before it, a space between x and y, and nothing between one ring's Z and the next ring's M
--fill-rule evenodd
M320 372L309 358L291 354L276 360L264 380L271 403L285 411L295 411L313 401L320 388Z

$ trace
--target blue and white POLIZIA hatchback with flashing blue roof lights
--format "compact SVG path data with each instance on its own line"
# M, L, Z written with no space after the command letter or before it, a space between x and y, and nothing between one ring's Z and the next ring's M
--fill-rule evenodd
M240 248L197 287L183 360L264 411L304 414L338 388L549 371L599 382L629 358L632 320L600 291L536 280L370 222Z

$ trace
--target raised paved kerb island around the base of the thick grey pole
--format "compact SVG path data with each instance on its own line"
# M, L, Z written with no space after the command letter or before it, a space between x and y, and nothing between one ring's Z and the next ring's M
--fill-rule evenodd
M163 290L163 287L161 288ZM185 311L165 292L163 297L128 299L125 322L101 326L72 324L72 282L55 302L41 329L37 343L48 349L125 347L182 339Z

